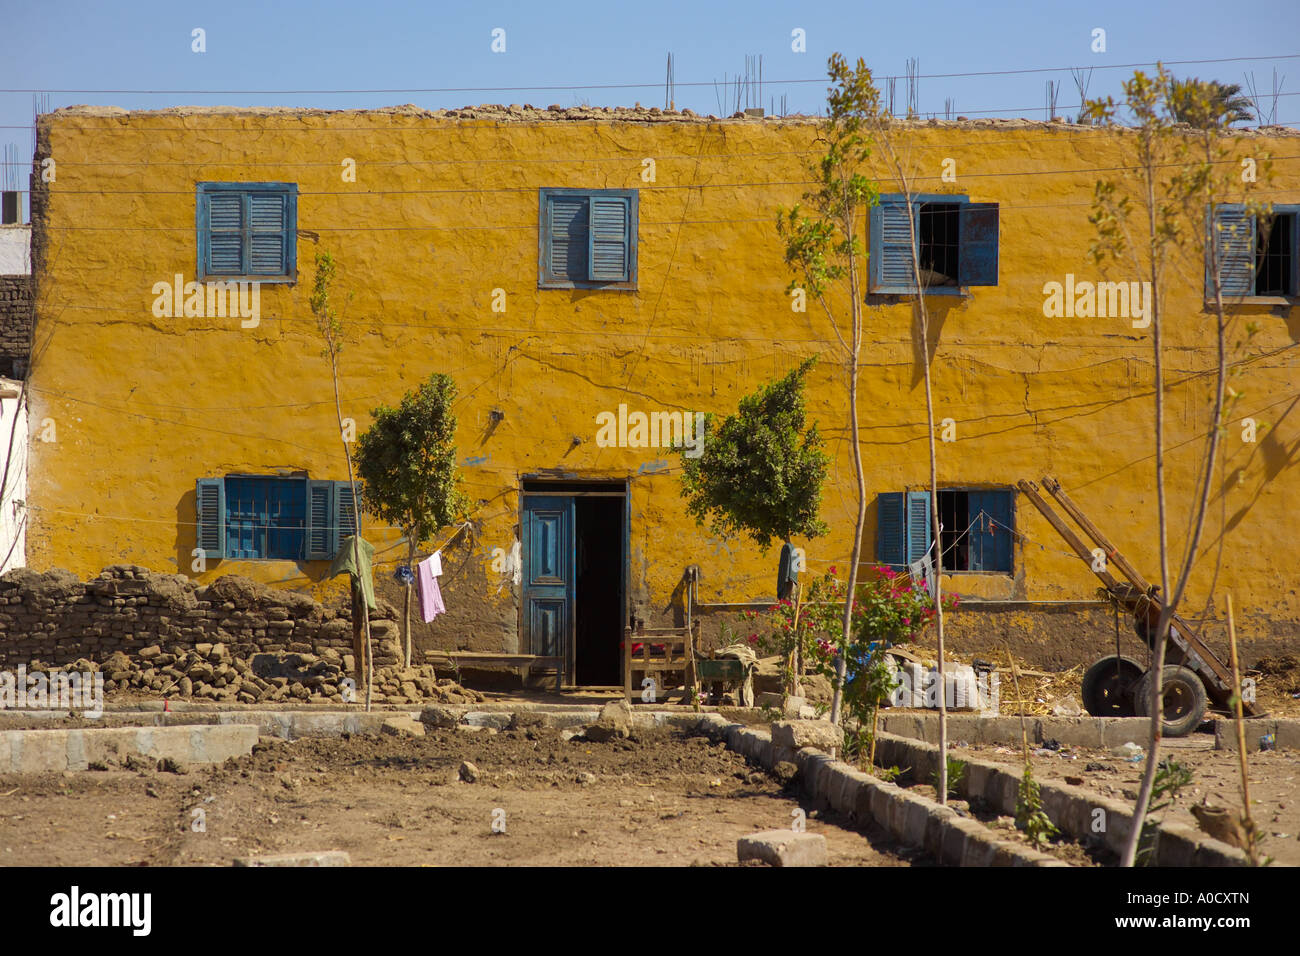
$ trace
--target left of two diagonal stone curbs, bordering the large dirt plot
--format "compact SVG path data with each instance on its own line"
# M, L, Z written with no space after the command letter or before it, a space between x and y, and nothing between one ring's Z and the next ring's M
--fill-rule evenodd
M776 747L771 732L749 730L718 714L698 718L697 726L768 769L780 761L798 763L802 787L810 796L826 800L838 813L859 822L875 819L900 843L924 849L940 862L954 866L1069 866L1040 851L1000 840L978 821L959 817L933 800L879 780L811 747L797 753Z

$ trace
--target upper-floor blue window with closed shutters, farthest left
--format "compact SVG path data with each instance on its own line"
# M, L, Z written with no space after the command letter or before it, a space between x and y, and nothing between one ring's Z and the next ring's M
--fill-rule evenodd
M298 269L298 183L200 182L199 281L292 282Z

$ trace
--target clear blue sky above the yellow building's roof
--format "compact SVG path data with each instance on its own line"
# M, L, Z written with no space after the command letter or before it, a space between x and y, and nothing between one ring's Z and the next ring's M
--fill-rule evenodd
M244 3L39 4L5 0L6 42L0 90L51 92L49 107L95 103L125 108L179 104L326 108L416 103L663 105L664 61L675 55L677 107L716 113L714 82L744 73L746 55L763 55L763 105L786 96L789 112L815 112L824 96L826 60L862 56L878 77L904 74L919 60L919 108L942 114L952 99L968 116L1044 116L1045 83L1061 82L1058 111L1078 94L1069 66L1097 68L1089 95L1115 94L1131 70L1101 69L1157 59L1275 57L1300 52L1300 4L1260 0L1134 3L1110 0L984 0L983 3L438 3L416 0L263 0ZM1223 10L1232 10L1225 16ZM1240 10L1238 13L1238 10ZM191 51L205 31L207 52ZM506 52L491 51L494 29ZM1092 31L1105 30L1105 52ZM792 51L792 30L806 52ZM1057 69L982 77L941 73ZM1286 75L1277 118L1300 125L1300 59L1175 66L1179 75L1242 82L1253 72L1271 87ZM783 83L781 81L812 81ZM701 83L701 86L690 86ZM581 88L644 85L637 88ZM447 87L474 91L416 92ZM533 87L489 91L484 87ZM538 90L536 87L558 87ZM94 92L101 90L394 90L359 94ZM904 101L905 81L897 83ZM0 142L30 150L32 95L0 92ZM23 174L23 179L26 176ZM26 186L26 182L22 183Z

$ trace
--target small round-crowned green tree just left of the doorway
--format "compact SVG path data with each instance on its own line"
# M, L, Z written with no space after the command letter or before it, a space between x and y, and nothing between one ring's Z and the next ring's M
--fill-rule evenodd
M439 529L459 520L468 505L456 473L456 384L434 373L396 408L381 405L356 441L356 471L365 484L370 514L402 529L407 564ZM403 644L411 666L411 584L403 600Z

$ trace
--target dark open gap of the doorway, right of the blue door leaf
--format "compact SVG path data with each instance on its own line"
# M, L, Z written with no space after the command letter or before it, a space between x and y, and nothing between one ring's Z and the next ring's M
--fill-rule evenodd
M575 499L575 683L584 687L623 682L623 502L621 494Z

